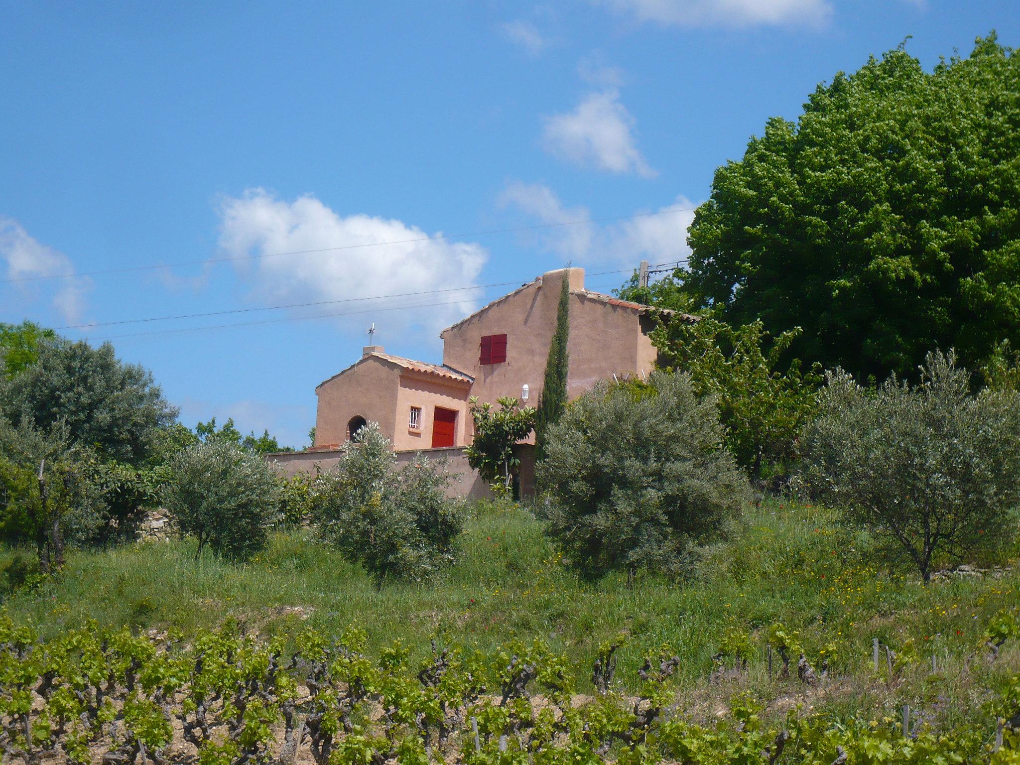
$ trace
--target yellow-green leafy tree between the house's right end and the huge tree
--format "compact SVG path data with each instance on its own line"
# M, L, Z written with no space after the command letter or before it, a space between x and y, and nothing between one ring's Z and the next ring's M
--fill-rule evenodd
M799 361L781 361L800 334L789 329L769 343L760 320L733 327L711 315L674 319L653 333L664 361L688 372L698 395L715 398L726 446L756 478L763 464L782 471L792 461L814 411L818 365L802 373Z

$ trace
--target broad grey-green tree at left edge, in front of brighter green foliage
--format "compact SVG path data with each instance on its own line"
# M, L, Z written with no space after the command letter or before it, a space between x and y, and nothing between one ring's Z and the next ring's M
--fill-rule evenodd
M43 431L63 422L73 444L137 465L177 410L148 370L121 362L109 343L93 348L56 339L41 343L36 362L0 384L0 413L27 417Z

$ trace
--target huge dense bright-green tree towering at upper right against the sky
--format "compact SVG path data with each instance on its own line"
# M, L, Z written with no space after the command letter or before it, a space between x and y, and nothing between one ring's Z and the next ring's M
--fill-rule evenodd
M838 72L716 170L684 289L859 379L1020 347L1018 92L994 34L930 72L903 46Z

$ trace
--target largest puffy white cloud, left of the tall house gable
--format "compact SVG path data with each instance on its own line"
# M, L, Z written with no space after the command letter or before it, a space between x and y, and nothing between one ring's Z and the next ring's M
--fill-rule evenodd
M412 325L435 334L476 306L478 292L470 290L359 299L470 288L487 259L480 245L435 238L441 235L429 239L422 230L400 220L363 214L345 217L313 196L288 202L263 189L224 198L219 211L219 245L227 255L301 251L238 261L239 272L254 285L260 302L350 301L304 308L301 313L358 311L342 320L348 325L376 321L376 340L384 343L400 338ZM324 251L308 252L316 250ZM428 305L437 303L443 305ZM422 307L394 310L406 306Z

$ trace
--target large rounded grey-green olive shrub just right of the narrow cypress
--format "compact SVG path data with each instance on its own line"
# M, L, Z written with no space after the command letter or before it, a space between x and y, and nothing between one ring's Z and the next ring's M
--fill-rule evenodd
M675 570L748 497L715 401L698 398L686 373L600 384L550 429L537 470L549 533L591 573Z

